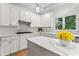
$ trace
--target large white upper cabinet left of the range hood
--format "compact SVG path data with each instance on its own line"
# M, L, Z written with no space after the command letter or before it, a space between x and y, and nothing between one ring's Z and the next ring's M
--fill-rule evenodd
M0 25L17 26L19 10L17 7L2 3L0 4Z

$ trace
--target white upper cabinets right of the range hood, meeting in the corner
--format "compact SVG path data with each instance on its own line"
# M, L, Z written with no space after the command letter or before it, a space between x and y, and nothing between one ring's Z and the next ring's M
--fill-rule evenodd
M31 27L51 27L51 13L38 15L33 14Z

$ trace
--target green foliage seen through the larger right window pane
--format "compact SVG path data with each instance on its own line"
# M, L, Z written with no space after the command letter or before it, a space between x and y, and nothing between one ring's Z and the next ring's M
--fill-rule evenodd
M65 17L65 29L76 29L76 16Z

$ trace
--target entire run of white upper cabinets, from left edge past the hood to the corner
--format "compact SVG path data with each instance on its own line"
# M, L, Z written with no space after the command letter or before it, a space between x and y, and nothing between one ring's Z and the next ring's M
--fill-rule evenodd
M38 15L12 4L0 4L0 25L18 26L18 20L31 22L31 27L51 27L50 13Z

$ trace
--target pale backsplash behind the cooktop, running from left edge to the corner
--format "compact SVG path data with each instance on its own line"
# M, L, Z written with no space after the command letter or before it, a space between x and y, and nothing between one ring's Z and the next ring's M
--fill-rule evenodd
M31 31L31 32L37 32L38 28L31 28L27 26L0 26L0 35L9 35L9 34L15 34L18 31Z

